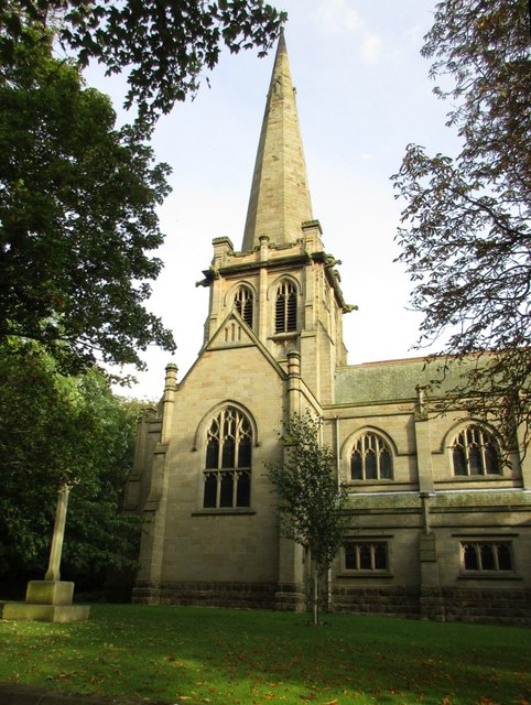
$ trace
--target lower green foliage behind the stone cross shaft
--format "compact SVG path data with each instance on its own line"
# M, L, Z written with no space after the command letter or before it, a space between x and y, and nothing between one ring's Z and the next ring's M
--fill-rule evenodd
M44 575L57 490L71 492L62 573L101 588L131 570L140 522L121 513L138 402L115 397L97 370L65 377L36 344L0 346L0 583Z

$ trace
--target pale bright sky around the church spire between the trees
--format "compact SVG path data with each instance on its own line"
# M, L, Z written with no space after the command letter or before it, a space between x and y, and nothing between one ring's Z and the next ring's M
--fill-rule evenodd
M344 318L350 365L414 357L421 317L409 310L412 284L394 236L404 203L390 176L405 147L451 154L449 106L433 95L430 63L420 50L435 0L281 0L289 13L290 57L314 217L327 252L342 260ZM159 209L164 269L148 307L174 333L174 355L156 347L138 383L119 393L159 399L169 362L182 379L203 344L208 290L196 288L210 264L215 237L241 247L251 176L274 51L223 54L193 101L158 124L153 148L173 173ZM123 82L93 68L87 83L109 93L117 108ZM130 372L131 370L127 370Z

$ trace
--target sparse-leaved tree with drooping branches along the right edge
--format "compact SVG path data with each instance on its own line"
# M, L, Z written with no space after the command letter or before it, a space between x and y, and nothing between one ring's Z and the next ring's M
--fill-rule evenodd
M455 159L410 144L392 178L407 199L399 260L424 315L419 347L468 358L454 403L498 419L509 444L530 433L531 58L528 0L443 0L422 54L433 58ZM448 84L449 82L449 84ZM470 360L475 360L470 365ZM444 371L444 370L443 370Z

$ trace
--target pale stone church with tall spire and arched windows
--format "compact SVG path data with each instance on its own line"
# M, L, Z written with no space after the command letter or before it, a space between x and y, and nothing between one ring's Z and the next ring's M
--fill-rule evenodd
M430 391L423 359L347 364L351 306L312 213L282 36L241 247L213 246L201 352L182 379L167 366L139 423L133 599L304 608L306 556L280 534L264 464L282 457L282 420L308 409L349 492L325 607L531 621L531 454L502 453L495 424L432 414L444 387Z

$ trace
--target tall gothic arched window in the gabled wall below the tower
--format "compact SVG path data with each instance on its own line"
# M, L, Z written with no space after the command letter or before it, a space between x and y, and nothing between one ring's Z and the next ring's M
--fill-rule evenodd
M249 507L251 499L252 430L234 406L213 419L206 438L203 507Z

